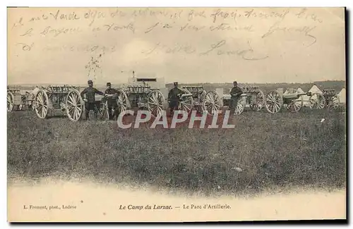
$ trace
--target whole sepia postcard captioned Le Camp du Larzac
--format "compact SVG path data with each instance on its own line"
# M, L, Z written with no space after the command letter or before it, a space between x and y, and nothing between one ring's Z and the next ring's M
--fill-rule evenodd
M7 13L9 222L347 218L345 8Z

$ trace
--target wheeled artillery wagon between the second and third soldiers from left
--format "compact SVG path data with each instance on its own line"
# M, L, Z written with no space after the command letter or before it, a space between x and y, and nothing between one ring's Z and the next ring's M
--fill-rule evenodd
M151 112L152 116L158 116L164 111L165 99L157 88L152 88L148 82L156 79L138 78L132 85L116 89L116 115L127 109L142 109Z

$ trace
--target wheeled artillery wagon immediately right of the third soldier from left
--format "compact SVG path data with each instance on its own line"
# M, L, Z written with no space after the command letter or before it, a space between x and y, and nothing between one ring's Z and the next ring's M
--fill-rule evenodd
M220 95L211 90L206 92L203 86L185 85L181 87L184 94L180 95L178 109L191 112L193 109L208 114L217 113L222 106Z

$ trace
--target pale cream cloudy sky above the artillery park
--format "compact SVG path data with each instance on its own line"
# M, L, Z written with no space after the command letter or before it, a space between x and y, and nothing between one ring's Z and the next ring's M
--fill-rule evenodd
M9 8L8 84L124 83L133 71L185 83L345 80L344 18L344 8Z

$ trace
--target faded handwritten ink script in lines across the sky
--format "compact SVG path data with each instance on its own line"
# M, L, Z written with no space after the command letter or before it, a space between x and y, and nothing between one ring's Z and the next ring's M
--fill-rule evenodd
M320 14L306 8L50 8L12 14L10 33L20 51L119 51L139 39L145 46L136 47L137 53L145 56L244 61L270 58L262 50L269 40L295 37L298 46L311 47L319 39L316 30L325 24Z

